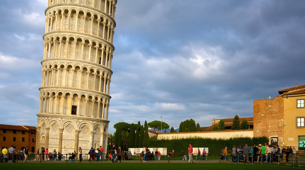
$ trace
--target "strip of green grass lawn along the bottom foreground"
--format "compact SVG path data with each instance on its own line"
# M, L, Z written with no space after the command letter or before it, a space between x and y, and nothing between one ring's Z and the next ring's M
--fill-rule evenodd
M292 163L290 163L292 164ZM304 163L302 163L304 165ZM110 163L107 162L75 162L75 163L64 163L64 162L28 162L28 163L2 163L0 164L1 169L36 169L36 170L44 170L44 169L132 169L132 170L143 170L143 169L279 169L279 168L293 168L292 166L282 164L278 166L277 164L270 164L264 163L264 165L260 164L236 164L236 163L187 163L186 161L181 162L171 162L171 163L165 163L165 162L122 162L122 163ZM297 167L296 167L297 168ZM305 169L305 167L301 167L302 169Z

